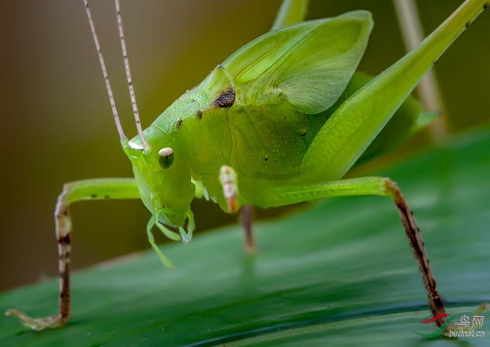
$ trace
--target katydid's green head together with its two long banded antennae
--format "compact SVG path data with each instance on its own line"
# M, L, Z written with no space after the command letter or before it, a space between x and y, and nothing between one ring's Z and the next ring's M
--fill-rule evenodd
M115 106L112 88L99 44L99 38L95 32L88 0L84 0L84 4L106 82L114 121L121 138L123 149L132 163L134 177L138 183L141 199L152 213L154 223L160 221L170 227L179 227L182 231L185 220L188 219L187 228L189 232L192 232L194 222L189 205L194 197L195 187L191 183L190 166L187 164L182 147L179 146L178 142L166 136L165 133L162 134L163 131L158 130L158 128L149 127L145 131L142 129L129 69L119 0L115 0L117 27L119 29L134 120L136 129L138 130L138 136L129 142L122 129L119 114ZM168 231L168 229L166 230Z

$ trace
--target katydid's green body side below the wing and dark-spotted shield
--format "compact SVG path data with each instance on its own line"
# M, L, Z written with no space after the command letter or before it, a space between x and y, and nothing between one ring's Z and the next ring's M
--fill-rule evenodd
M239 187L240 178L298 177L303 156L325 120L324 114L304 114L283 103L234 105L210 108L199 119L182 121L175 136L185 143L193 179L221 205L222 165L237 172Z

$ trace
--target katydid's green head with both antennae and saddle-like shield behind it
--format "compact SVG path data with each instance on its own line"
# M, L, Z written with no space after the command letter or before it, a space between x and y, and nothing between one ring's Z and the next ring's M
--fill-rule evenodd
M235 100L231 76L219 65L197 88L186 92L167 108L149 128L143 131L129 69L120 4L119 0L115 0L117 24L129 94L138 130L138 136L128 141L115 106L88 0L84 0L84 4L121 144L132 163L140 197L153 216L148 224L147 232L151 235L151 226L157 225L165 235L172 239L178 239L179 236L167 227L178 227L181 234L186 234L183 227L187 219L188 233L184 235L184 241L189 241L190 234L194 228L193 215L189 206L194 198L195 186L192 183L191 166L185 156L183 142L179 140L179 137L175 136L175 132L179 130L184 119L201 119L203 112L209 108L230 107ZM150 243L153 242L152 240L151 237Z

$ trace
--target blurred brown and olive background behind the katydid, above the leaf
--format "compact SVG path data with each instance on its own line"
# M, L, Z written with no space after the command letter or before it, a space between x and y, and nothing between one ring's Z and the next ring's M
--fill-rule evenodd
M425 33L461 2L417 2ZM266 32L279 5L280 0L122 1L143 125L230 53ZM373 12L375 20L360 70L377 74L404 54L391 1L311 0L308 18L360 8ZM113 3L92 2L91 10L123 126L132 136L135 128ZM128 177L131 169L120 149L82 1L10 1L0 3L0 11L2 291L56 275L52 215L64 182ZM481 127L490 120L489 33L490 21L479 18L436 65L452 132ZM422 134L404 149L424 147L427 139ZM193 210L198 232L237 220L205 201L194 201ZM258 211L258 217L278 213ZM75 269L149 246L144 232L149 214L140 201L79 203L72 216Z

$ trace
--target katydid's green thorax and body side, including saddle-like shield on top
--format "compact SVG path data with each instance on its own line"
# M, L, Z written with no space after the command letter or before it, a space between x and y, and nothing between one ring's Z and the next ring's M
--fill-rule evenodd
M218 179L222 165L237 172L239 188L250 179L298 177L302 159L328 117L325 112L302 113L280 100L247 104L246 91L247 85L235 88L226 70L218 66L145 130L152 150L175 147L174 165L184 165L186 172L190 169L194 181L201 181L222 207ZM139 142L138 138L131 141Z

